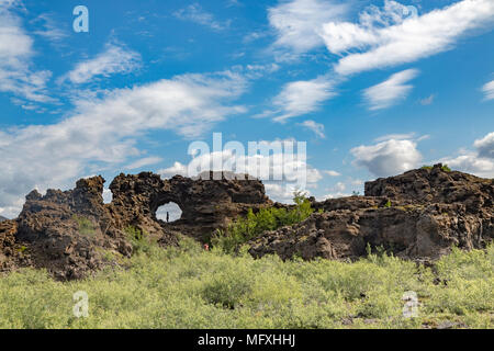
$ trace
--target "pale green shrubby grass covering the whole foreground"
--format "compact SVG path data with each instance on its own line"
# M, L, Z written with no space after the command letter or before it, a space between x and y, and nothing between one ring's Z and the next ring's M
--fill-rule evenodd
M353 263L254 260L245 249L205 251L191 239L168 249L149 241L135 252L128 269L82 281L56 282L34 269L0 278L0 328L494 327L494 246L453 249L435 272L385 254ZM87 318L72 314L79 291L89 296ZM416 318L403 316L408 291L419 299Z

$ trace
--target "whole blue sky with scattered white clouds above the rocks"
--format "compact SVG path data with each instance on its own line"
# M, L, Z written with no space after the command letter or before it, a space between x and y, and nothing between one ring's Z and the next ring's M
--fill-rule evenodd
M0 0L0 215L81 177L184 173L214 132L306 141L317 199L437 161L493 178L493 29L492 0Z

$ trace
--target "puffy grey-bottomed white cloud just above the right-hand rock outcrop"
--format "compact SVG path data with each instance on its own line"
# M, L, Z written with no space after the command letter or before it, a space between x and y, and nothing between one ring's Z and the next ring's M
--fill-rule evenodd
M414 140L389 139L375 145L359 146L350 152L355 163L377 177L396 176L419 166L422 155Z

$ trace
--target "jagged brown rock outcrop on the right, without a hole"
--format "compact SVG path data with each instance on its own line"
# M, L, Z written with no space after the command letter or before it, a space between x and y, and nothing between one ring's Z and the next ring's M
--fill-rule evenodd
M366 183L366 196L313 202L303 223L266 233L250 253L356 259L368 245L396 256L435 259L451 246L482 248L494 238L494 180L442 165Z

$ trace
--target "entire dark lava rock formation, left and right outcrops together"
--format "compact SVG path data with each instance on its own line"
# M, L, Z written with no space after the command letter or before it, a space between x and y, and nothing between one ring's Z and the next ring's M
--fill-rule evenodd
M69 191L33 191L16 219L0 223L0 270L31 265L46 268L59 280L80 279L114 264L109 256L132 254L130 227L162 246L176 245L179 234L205 241L249 208L280 205L266 196L258 180L205 176L162 180L149 172L120 174L110 184L110 204L103 203L102 177L81 179ZM494 180L447 172L437 165L368 182L366 196L312 200L316 213L265 233L250 242L250 253L356 259L369 245L404 258L435 259L452 245L482 248L493 239L493 200ZM170 202L182 210L181 218L157 219L157 210Z

